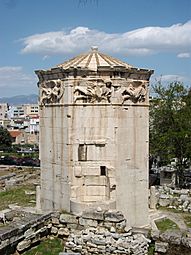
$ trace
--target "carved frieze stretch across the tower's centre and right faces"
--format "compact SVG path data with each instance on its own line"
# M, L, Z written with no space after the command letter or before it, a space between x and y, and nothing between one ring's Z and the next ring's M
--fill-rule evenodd
M146 100L147 83L142 81L116 81L110 79L81 81L74 88L74 103L139 103Z

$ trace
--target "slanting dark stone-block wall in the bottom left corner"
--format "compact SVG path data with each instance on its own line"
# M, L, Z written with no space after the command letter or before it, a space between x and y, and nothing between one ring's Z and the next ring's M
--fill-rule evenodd
M25 212L4 212L5 226L0 228L0 254L9 255L16 250L20 254L35 245L50 233L48 226L50 220L51 213L37 215Z

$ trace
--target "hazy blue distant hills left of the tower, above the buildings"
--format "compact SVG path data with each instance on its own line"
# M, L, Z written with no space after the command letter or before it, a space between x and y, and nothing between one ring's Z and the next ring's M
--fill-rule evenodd
M0 103L8 103L9 105L37 104L38 96L35 94L31 94L31 95L19 95L19 96L13 96L13 97L1 97Z

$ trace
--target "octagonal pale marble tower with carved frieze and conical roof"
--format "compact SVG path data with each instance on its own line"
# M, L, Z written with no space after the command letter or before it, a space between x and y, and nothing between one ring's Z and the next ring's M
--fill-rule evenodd
M148 83L138 69L96 47L38 70L41 206L123 212L148 224Z

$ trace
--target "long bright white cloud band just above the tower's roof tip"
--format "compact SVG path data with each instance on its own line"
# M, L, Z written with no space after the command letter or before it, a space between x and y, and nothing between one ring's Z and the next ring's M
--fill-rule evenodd
M159 52L190 54L191 21L169 27L144 27L125 33L109 34L87 27L71 31L35 34L22 39L22 53L43 55L87 51L92 45L111 53L148 55ZM185 56L184 56L185 57Z

